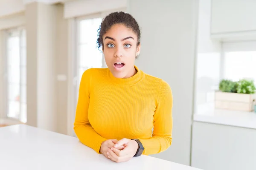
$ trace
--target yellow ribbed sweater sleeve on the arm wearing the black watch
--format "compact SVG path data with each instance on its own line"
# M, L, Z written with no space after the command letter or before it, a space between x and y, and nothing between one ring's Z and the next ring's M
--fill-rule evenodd
M160 153L172 144L172 90L167 82L163 81L157 98L157 107L154 113L154 130L149 139L140 139L143 144L144 155Z

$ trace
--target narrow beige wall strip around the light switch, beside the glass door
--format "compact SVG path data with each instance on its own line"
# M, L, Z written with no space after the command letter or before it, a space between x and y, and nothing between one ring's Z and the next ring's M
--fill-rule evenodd
M56 33L56 74L57 76L69 74L68 69L68 20L64 19L64 6L58 4L57 6L57 33ZM74 56L72 56L74 57ZM57 113L57 132L67 134L67 101L68 101L68 81L56 81L56 113ZM74 112L75 113L75 112ZM72 123L73 124L73 123ZM70 127L73 130L73 126Z

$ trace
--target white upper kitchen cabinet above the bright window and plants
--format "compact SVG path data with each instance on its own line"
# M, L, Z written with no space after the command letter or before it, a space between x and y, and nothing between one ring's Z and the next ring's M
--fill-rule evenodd
M211 34L256 31L256 0L212 0Z

